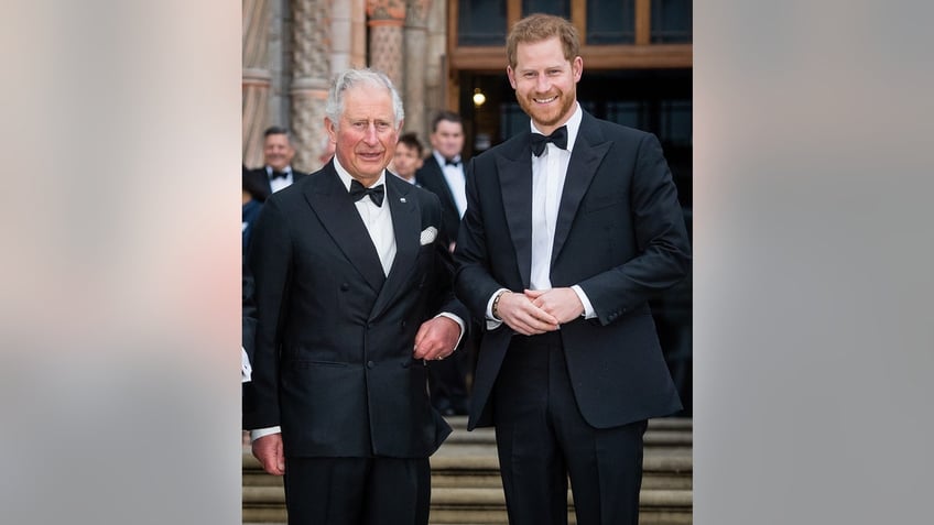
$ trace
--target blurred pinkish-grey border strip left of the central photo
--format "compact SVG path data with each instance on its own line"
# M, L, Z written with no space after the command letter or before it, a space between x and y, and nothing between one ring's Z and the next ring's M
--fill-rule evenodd
M4 523L240 522L240 23L4 4Z

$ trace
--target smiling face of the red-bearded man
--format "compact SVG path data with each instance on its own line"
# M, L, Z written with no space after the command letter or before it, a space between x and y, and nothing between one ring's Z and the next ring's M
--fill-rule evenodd
M520 43L515 48L515 67L506 69L519 106L545 134L551 134L574 113L583 72L584 59L565 58L557 36Z

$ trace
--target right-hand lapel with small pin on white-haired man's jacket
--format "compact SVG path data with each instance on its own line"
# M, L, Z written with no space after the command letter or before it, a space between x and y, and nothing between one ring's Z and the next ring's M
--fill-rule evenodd
M404 186L403 186L404 185ZM413 196L409 196L411 189L409 183L390 184L387 178L385 203L392 216L392 231L395 236L395 258L389 270L385 284L380 291L370 318L376 318L389 307L393 299L399 296L402 284L405 283L415 267L415 258L419 255L421 236L421 214L419 203Z

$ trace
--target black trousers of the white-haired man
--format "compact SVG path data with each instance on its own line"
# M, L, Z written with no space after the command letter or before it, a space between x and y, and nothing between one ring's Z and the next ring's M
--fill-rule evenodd
M286 458L289 525L427 525L428 459Z

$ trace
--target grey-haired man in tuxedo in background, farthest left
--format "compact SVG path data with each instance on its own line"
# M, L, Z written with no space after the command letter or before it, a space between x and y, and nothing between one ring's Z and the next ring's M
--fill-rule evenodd
M295 149L289 136L289 130L273 125L263 132L262 167L243 173L243 190L249 192L260 203L280 189L297 183L306 173L292 168Z

